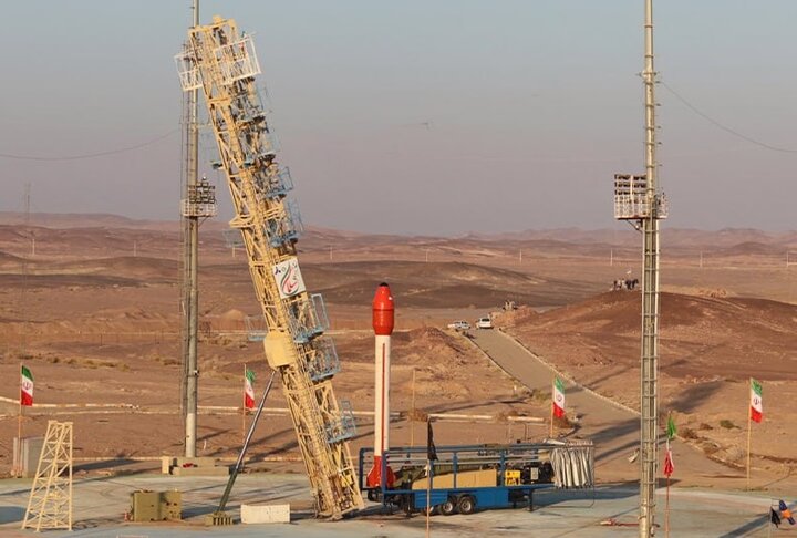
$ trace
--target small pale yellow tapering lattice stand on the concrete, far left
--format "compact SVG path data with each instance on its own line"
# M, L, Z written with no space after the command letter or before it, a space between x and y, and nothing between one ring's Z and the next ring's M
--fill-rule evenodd
M48 422L22 529L72 530L72 423Z

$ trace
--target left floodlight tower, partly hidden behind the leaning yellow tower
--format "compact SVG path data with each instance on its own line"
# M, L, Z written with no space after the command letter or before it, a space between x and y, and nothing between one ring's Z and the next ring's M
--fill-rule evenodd
M193 27L199 25L199 0L194 0ZM186 44L186 48L188 44ZM183 380L182 408L185 424L185 455L196 457L197 341L199 327L199 219L216 216L216 187L199 179L199 91L186 92L186 166L180 200L183 216Z

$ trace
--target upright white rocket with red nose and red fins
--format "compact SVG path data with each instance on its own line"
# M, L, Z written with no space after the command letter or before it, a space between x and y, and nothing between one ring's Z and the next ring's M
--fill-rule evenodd
M375 349L375 394L374 394L374 466L368 475L368 485L377 487L393 486L395 476L385 462L385 476L382 476L382 454L390 448L390 344L393 334L395 307L390 286L382 282L376 288L373 300L373 328L376 335Z

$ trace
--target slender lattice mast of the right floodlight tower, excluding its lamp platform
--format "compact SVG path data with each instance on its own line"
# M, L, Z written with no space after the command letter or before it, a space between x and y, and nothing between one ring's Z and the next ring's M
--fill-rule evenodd
M645 201L648 214L642 219L642 368L641 368L641 435L640 435L640 538L655 532L655 485L659 461L659 193L656 162L655 77L653 69L653 0L644 9L644 80L645 93Z

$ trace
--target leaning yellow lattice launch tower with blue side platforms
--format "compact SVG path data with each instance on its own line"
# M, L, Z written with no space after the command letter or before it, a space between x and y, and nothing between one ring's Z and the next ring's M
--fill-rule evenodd
M260 66L251 38L235 21L215 17L188 31L176 56L184 91L201 89L218 143L249 272L262 308L269 365L279 371L299 448L321 517L338 519L363 507L348 439L354 421L339 404L331 379L338 371L323 300L309 294L296 241L302 231L288 168L276 161L276 141L255 85Z

